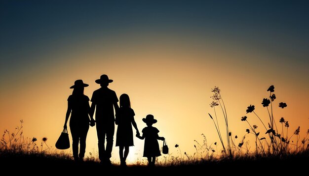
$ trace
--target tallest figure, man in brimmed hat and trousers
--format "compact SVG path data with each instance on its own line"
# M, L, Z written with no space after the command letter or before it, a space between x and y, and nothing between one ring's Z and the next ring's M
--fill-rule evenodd
M93 119L94 110L95 122L98 136L99 159L102 164L111 165L112 149L115 134L115 112L117 114L118 98L116 92L108 88L110 80L107 75L101 75L100 79L95 81L101 88L93 91L91 97L90 117ZM106 147L105 147L106 137Z

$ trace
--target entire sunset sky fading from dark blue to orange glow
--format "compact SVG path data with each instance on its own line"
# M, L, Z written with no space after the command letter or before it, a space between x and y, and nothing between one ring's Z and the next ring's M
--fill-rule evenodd
M46 137L54 147L74 81L89 84L84 93L91 98L102 74L114 80L109 88L118 97L130 96L140 131L146 126L142 118L154 115L154 126L174 156L193 155L194 140L203 143L201 134L209 146L222 149L208 116L214 116L209 104L215 86L221 89L232 136L239 136L235 144L249 128L243 116L265 134L246 109L255 105L267 124L261 103L271 85L279 132L284 117L288 135L300 126L302 140L309 129L308 68L306 0L0 1L0 131L13 132L22 119L23 136L38 138L38 145ZM279 108L279 102L287 107ZM291 141L296 144L296 136ZM144 147L142 140L134 138L134 143L132 162ZM87 156L97 152L95 127L86 144ZM119 160L115 143L112 157Z

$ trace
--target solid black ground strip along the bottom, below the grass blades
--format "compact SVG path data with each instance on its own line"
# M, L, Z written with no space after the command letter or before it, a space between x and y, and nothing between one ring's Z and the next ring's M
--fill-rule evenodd
M308 153L287 155L281 157L242 157L236 159L218 159L191 161L177 165L155 166L128 165L127 167L113 164L101 165L97 161L86 160L75 162L70 156L39 154L1 153L0 166L10 174L57 174L57 175L270 175L307 173L309 167Z

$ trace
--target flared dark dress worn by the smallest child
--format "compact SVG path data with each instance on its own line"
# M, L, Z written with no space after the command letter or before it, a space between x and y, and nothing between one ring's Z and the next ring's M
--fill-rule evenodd
M145 137L143 157L161 156L159 143L157 141L159 130L153 126L147 126L142 130Z

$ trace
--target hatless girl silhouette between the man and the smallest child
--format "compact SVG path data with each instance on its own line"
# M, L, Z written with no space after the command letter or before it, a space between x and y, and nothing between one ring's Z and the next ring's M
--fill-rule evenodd
M140 135L136 122L134 120L134 111L131 108L129 95L123 93L119 97L119 112L116 115L116 146L119 146L120 165L126 166L125 160L129 154L129 147L133 144L132 125L136 130L136 134ZM123 151L124 149L124 151Z

